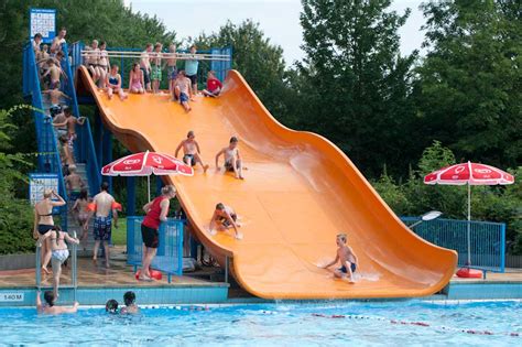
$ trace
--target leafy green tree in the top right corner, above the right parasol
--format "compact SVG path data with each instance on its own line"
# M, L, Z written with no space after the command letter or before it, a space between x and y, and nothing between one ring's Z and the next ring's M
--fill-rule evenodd
M431 1L417 68L422 138L457 158L514 167L522 160L520 1Z

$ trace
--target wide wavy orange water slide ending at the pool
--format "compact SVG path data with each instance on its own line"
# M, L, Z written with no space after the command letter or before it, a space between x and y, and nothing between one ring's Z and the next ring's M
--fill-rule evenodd
M93 95L105 126L132 152L173 154L187 131L195 131L208 172L195 167L192 177L163 177L177 188L196 237L221 264L228 257L231 273L251 294L278 300L424 296L453 276L456 252L405 227L335 144L279 123L238 72L228 73L219 98L197 96L189 113L167 94L109 100L85 67L76 86L79 95ZM231 135L240 141L244 181L214 165ZM217 203L236 209L242 240L228 231L208 232ZM359 258L356 284L318 268L335 258L339 232L348 235Z

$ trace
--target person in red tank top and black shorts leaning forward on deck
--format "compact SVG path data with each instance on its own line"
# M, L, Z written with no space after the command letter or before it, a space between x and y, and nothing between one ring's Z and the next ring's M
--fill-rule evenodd
M141 238L143 239L143 261L140 281L152 281L150 267L156 256L160 243L160 225L166 221L171 198L176 196L176 188L173 185L166 185L161 189L161 195L143 206L146 216L141 224Z

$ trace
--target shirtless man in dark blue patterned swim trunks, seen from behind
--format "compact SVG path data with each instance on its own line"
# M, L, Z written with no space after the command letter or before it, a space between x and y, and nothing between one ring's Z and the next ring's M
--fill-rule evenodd
M112 229L112 218L115 218L115 228L118 229L118 212L115 208L116 200L112 195L109 194L109 184L104 182L101 184L101 192L98 193L95 198L94 203L96 205L95 210L95 226L94 226L94 235L95 235L95 249L93 251L93 261L97 262L98 257L98 249L100 247L100 242L104 245L105 250L105 265L109 268L109 240ZM111 217L112 212L112 217Z

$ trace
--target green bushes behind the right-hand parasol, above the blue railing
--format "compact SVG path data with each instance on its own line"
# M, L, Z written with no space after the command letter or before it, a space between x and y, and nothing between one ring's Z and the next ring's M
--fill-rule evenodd
M399 215L420 216L439 210L444 217L467 219L467 186L426 185L423 176L455 163L452 151L434 142L423 152L418 170L411 171L404 184L396 184L385 172L373 183L374 188ZM508 186L472 186L471 219L505 223L507 249L522 254L522 167L511 172L515 183Z

